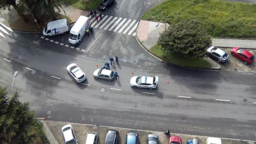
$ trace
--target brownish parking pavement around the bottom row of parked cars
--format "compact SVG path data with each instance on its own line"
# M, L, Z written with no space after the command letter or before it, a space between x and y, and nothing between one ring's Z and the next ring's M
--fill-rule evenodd
M63 138L61 134L61 127L71 124L74 127L77 139L79 143L85 143L86 134L89 131L94 131L99 134L98 144L104 142L105 134L108 129L115 129L119 131L119 139L118 143L122 144L125 143L125 136L127 131L136 131L139 135L139 143L143 144L146 143L147 135L148 134L156 134L159 136L159 144L167 144L169 136L165 136L161 131L147 131L147 130L140 130L140 129L126 129L126 128L119 128L119 127L106 127L106 126L96 126L96 125L86 125L86 124L78 124L78 123L69 123L69 122L57 122L57 121L50 121L45 120L45 125L49 127L50 131L45 131L45 133L51 133L54 135L53 137L56 138L58 143L63 143ZM171 136L179 136L182 138L183 143L185 144L186 141L192 140L196 138L200 144L206 143L207 136L195 136L195 135L186 135L186 134L176 134L171 133ZM48 138L48 137L47 137ZM55 141L51 141L51 144L56 144ZM222 144L255 144L255 141L248 141L248 140L238 140L238 139L229 139L229 138L222 138Z

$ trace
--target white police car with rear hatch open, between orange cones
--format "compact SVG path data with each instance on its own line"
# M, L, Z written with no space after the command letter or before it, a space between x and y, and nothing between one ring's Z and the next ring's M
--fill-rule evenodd
M153 90L157 87L158 83L158 76L155 77L145 77L145 76L139 76L139 77L132 77L130 80L130 85L133 88L149 88L150 90Z

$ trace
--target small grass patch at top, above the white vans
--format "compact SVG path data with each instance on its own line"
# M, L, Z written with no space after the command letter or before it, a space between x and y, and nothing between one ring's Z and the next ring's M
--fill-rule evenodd
M102 0L69 0L69 4L80 10L90 11L91 9L97 9Z

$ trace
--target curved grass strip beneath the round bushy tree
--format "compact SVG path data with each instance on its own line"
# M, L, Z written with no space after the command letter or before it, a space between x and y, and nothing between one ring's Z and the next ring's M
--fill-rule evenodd
M155 55L163 58L163 51L161 50L161 46L154 45L150 48L150 51ZM182 56L174 56L172 54L164 54L164 58L167 61L175 63L177 65L185 66L185 67L194 67L194 68L210 68L211 64L208 63L203 58L193 58L193 57L182 57Z

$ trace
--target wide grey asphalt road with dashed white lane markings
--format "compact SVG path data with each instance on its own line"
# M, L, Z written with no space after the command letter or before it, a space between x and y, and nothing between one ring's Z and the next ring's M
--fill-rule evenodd
M146 5L141 1L117 3L111 7L112 11L108 12L109 8L104 13L120 13L119 17L127 18L130 13L134 19L139 19L143 8L139 12L134 10ZM127 3L129 7L132 5L130 11L118 6L128 6ZM7 86L11 94L13 74L19 71L14 89L20 91L22 101L31 103L37 117L256 139L256 105L252 103L256 102L255 73L193 70L168 65L148 54L134 36L103 29L95 28L93 35L82 40L78 47L85 52L55 44L41 36L41 33L15 31L0 41L0 83ZM68 44L67 35L51 40ZM117 71L120 79L111 82L94 79L96 65L104 65L115 55L119 56L119 65L115 63L111 70ZM67 73L65 69L70 63L77 63L86 73L87 80L83 82L86 85L76 83ZM130 78L138 75L158 75L158 87L155 90L131 88ZM103 93L101 88L105 89ZM247 99L247 103L242 99Z

